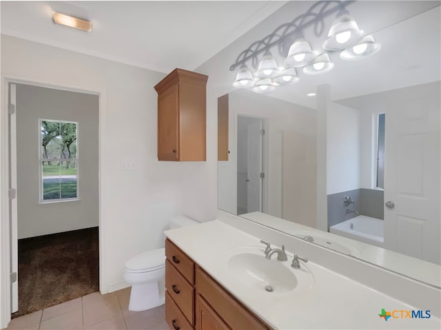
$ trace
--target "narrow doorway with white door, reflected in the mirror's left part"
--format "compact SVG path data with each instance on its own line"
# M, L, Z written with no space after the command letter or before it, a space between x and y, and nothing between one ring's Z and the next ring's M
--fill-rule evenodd
M237 116L237 214L263 209L263 118Z

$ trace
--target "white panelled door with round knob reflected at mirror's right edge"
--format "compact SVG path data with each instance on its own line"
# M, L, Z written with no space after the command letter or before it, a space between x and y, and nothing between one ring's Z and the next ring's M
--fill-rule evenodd
M436 263L441 251L438 94L387 110L384 164L384 247Z

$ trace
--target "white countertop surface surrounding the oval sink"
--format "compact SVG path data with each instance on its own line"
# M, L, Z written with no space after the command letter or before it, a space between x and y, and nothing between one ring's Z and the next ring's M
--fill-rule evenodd
M315 284L307 291L276 293L249 289L228 271L227 259L231 249L261 245L260 240L218 220L168 230L165 235L274 329L440 329L440 319L434 316L384 321L378 316L382 309L416 308L311 261L306 266L314 275ZM291 260L291 251L287 255ZM296 274L298 269L292 271Z

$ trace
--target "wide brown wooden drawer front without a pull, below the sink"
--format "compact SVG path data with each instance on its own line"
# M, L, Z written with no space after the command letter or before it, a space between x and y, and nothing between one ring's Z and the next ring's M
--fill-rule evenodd
M196 292L203 296L231 329L270 329L232 298L200 267L196 267Z

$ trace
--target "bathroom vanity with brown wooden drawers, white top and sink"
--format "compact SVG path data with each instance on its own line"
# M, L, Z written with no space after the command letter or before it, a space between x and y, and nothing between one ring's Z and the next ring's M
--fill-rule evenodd
M439 329L439 290L238 219L165 231L170 329ZM265 259L260 239L288 260ZM294 269L294 254L309 261ZM382 309L431 316L386 322Z

